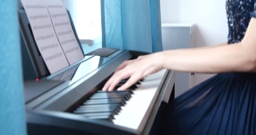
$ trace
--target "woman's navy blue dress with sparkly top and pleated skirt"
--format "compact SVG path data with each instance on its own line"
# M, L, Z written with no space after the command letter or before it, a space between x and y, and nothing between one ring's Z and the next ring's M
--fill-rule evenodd
M240 42L256 0L227 0L226 10L228 43ZM256 73L217 74L188 90L170 105L167 126L167 134L256 134Z

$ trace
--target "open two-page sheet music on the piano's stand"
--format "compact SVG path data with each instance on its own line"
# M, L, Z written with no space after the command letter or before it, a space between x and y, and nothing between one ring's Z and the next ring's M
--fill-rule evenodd
M33 36L51 74L84 56L61 1L21 0Z

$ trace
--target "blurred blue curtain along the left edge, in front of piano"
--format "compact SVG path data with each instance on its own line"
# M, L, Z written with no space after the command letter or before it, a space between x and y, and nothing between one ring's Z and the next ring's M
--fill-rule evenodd
M0 4L0 134L26 134L17 1Z

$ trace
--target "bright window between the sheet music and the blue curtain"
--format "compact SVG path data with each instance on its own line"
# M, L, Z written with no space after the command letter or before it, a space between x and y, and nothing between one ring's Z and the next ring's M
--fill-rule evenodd
M101 1L62 0L70 11L84 53L101 48Z

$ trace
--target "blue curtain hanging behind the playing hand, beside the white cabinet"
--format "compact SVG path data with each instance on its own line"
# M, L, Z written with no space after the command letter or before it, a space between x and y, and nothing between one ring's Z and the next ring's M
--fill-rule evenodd
M162 51L159 0L101 0L102 46Z

